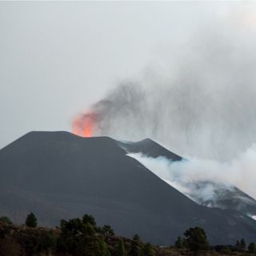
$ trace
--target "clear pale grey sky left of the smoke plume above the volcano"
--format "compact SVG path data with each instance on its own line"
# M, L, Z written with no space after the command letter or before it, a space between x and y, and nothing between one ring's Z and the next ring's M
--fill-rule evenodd
M30 130L71 130L76 114L232 5L0 2L0 148Z

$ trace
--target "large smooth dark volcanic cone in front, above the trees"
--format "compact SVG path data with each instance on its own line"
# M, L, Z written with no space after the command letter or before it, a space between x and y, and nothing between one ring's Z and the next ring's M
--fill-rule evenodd
M0 150L0 215L24 222L33 211L41 224L94 214L117 234L170 244L190 226L213 243L256 239L256 222L199 206L126 156L111 138L66 132L31 132Z

